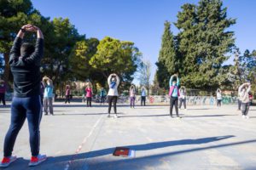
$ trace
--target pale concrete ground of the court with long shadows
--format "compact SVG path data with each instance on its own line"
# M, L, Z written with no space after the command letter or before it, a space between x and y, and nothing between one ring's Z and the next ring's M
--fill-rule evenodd
M55 116L43 116L41 153L49 159L27 167L30 159L27 123L20 130L8 169L256 169L256 107L242 119L236 105L189 106L182 119L167 106L119 105L119 118L107 117L107 105L55 103ZM10 108L0 106L0 155ZM113 156L117 146L136 150L134 158Z

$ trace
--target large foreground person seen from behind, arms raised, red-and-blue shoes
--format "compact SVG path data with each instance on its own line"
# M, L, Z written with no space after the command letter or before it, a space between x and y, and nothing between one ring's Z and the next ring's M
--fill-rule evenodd
M37 32L37 42L22 42L26 31ZM9 167L17 158L12 156L15 140L20 128L27 119L29 143L32 157L29 166L37 166L46 160L39 154L40 122L42 117L40 99L40 65L44 54L44 36L37 26L26 25L20 28L10 51L9 65L14 77L14 98L11 104L11 122L4 139L3 161L0 167Z

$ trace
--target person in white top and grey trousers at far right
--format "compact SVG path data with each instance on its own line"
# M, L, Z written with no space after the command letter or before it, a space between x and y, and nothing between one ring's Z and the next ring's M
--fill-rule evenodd
M249 118L247 116L250 108L249 92L251 90L251 84L249 82L243 83L239 88L238 92L241 97L241 114L243 118Z

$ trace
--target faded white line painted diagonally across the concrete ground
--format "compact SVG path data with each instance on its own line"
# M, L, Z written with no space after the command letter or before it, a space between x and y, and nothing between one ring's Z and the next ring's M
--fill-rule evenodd
M71 157L71 160L67 162L67 165L65 166L64 170L68 170L69 167L72 165L73 161L75 160L75 157L78 156L78 154L82 150L84 144L87 142L87 139L90 138L91 134L94 132L94 130L96 129L97 125L101 122L103 116L104 115L102 115L97 120L97 122L94 124L94 126L91 128L90 133L84 138L83 142L79 145L78 149L75 151L75 154Z

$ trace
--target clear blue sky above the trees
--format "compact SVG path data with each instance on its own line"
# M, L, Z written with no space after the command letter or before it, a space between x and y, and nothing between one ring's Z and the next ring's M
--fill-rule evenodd
M110 36L135 42L143 58L151 61L154 77L165 20L175 22L184 3L198 0L32 0L32 3L51 20L69 18L86 37ZM228 8L229 18L237 19L236 25L230 27L236 33L236 45L241 51L256 49L256 1L224 0L224 7ZM177 34L173 25L172 31Z

